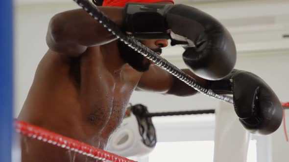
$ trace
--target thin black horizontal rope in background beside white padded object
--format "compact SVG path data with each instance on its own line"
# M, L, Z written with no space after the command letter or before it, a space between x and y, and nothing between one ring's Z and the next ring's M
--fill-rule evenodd
M215 110L192 110L192 111L175 111L175 112L162 112L162 113L146 113L145 117L163 117L174 115L196 115L196 114L215 114Z

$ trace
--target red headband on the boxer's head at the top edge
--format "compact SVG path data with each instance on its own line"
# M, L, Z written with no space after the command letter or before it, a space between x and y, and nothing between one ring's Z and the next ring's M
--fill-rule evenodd
M102 6L124 7L128 2L155 3L160 1L171 1L174 3L173 0L103 0Z

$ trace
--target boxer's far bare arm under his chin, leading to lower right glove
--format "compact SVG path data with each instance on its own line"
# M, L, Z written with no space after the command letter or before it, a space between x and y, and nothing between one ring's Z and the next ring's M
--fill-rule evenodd
M200 84L205 85L206 80L197 77L189 69L182 70L193 77ZM151 91L176 96L190 96L197 93L197 91L192 87L156 65L149 67L149 70L142 75L136 90Z

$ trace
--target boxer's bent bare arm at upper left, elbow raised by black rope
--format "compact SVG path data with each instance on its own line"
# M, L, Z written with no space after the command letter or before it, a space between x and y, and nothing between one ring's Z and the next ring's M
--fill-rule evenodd
M121 25L123 8L98 8L117 25ZM66 11L53 16L46 36L50 50L68 56L79 56L90 46L102 45L116 39L83 9Z

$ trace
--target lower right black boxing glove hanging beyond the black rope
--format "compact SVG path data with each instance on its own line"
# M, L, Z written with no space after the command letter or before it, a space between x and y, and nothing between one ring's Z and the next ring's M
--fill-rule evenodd
M253 73L234 69L220 81L208 81L217 94L233 94L234 108L241 124L253 134L276 131L283 119L283 108L274 91Z

